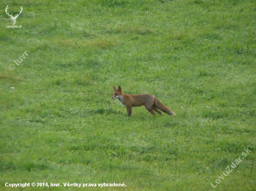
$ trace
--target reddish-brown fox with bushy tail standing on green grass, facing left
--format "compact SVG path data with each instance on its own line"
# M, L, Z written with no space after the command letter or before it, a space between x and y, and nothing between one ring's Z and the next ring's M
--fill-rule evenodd
M132 115L132 107L139 107L144 105L145 108L152 114L155 115L154 111L157 112L159 115L162 113L158 110L160 109L164 113L168 115L175 115L175 113L169 109L167 106L162 104L154 95L151 94L125 94L122 92L121 87L118 86L116 89L113 86L114 95L112 99L118 99L121 104L127 108L128 116ZM154 111L153 111L154 110Z

